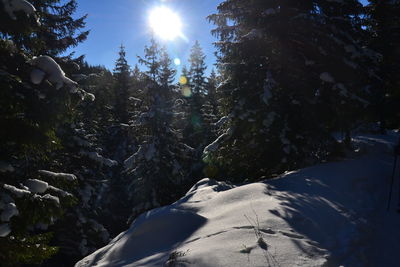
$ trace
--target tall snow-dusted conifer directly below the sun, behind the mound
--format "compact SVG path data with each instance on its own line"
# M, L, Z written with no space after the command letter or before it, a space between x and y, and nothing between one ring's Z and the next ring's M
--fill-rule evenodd
M139 146L124 162L126 194L132 218L141 212L175 201L187 188L185 179L192 149L173 128L175 90L171 60L159 52L154 39L139 61L146 67L141 114L133 122ZM189 184L189 183L188 183ZM186 187L185 187L186 186Z

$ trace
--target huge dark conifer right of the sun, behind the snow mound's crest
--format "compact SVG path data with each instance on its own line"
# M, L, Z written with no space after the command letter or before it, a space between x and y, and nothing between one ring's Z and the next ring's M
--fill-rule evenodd
M226 0L211 15L228 120L204 150L233 180L329 157L363 105L357 1ZM348 136L348 135L347 135Z

